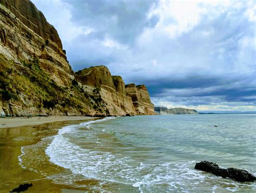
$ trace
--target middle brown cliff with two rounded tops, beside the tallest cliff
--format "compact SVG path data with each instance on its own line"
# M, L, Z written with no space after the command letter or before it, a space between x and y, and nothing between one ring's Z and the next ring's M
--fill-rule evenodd
M105 66L96 66L77 73L85 92L96 96L100 105L95 109L103 109L106 115L137 115L131 97L126 95L122 77L111 76Z

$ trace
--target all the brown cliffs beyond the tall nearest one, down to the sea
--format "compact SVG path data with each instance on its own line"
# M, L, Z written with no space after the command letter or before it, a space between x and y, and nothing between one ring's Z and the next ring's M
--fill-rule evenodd
M80 70L77 72L77 78L85 92L100 97L102 101L98 108L103 108L109 115L154 115L153 104L145 85L136 87L132 84L136 89L134 97L130 95L131 89L125 87L123 78L111 76L105 66Z

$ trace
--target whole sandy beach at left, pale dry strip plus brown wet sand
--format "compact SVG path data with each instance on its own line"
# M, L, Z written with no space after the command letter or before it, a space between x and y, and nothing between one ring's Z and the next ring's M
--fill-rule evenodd
M42 120L41 120L42 119ZM52 140L51 136L58 133L59 128L67 125L84 123L85 121L93 120L96 118L88 117L38 117L23 118L23 119L1 119L5 120L5 126L8 128L0 129L0 192L9 192L17 188L19 184L32 183L26 192L84 192L87 191L86 185L97 184L98 182L90 179L81 179L80 182L84 184L84 188L74 188L72 185L58 184L51 180L49 176L70 176L72 173L69 170L58 167L49 161L49 157L45 154L45 147L48 145L47 141L42 143L45 138ZM65 119L71 119L66 121ZM78 119L78 120L76 120ZM79 120L83 119L83 120ZM41 124L44 121L53 123ZM57 121L56 120L60 120ZM3 123L3 122L0 122ZM36 123L33 124L32 123ZM29 125L10 127L17 125ZM41 125L39 125L41 124ZM1 127L3 127L2 125ZM42 146L39 150L31 151L31 157L26 157L24 162L29 162L30 159L37 159L42 161L42 168L38 171L31 170L29 166L25 168L21 166L19 156L22 154L23 146ZM43 171L43 172L42 172ZM55 178L55 177L53 177Z

